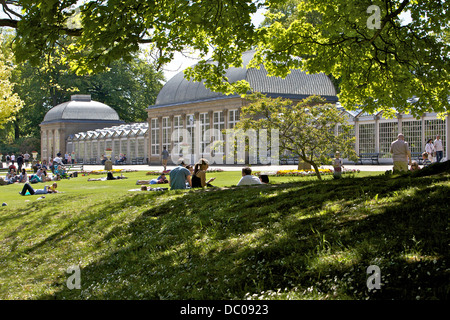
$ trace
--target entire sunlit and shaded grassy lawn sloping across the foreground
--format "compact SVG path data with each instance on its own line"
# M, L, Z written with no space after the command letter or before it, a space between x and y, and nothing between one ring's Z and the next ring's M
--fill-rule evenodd
M129 176L26 203L2 187L0 298L449 298L448 169L163 193L124 192Z

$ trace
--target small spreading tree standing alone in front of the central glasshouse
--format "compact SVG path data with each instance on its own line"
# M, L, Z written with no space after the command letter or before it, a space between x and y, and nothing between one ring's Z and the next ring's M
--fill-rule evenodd
M329 164L336 151L357 159L352 126L342 110L323 98L310 96L294 103L256 94L250 101L241 109L237 128L278 130L279 153L310 164L319 179L319 166Z

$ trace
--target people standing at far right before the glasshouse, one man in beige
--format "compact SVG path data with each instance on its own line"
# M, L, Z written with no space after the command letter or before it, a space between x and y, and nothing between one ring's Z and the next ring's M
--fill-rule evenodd
M392 142L390 152L392 153L392 159L394 161L394 172L406 172L408 171L408 165L410 166L410 171L416 171L420 169L417 161L413 161L411 158L411 151L409 149L408 143L405 141L405 136L403 134L398 134L397 140ZM440 136L437 135L434 141L433 139L429 139L425 145L425 152L422 153L423 167L429 166L433 162L433 158L436 159L435 162L441 162L443 156L444 147Z

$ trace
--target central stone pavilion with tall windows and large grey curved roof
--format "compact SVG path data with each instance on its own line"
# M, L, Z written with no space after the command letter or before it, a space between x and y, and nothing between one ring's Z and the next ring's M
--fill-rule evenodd
M246 80L255 92L294 102L311 95L320 95L330 103L338 101L334 85L325 74L292 70L284 79L268 77L264 67L246 67L253 55L254 51L244 53L243 67L227 70L226 77L230 82ZM178 73L164 85L155 105L147 110L149 162L161 163L163 148L169 150L174 162L181 155L191 163L199 158L208 159L215 141L222 142L222 147L219 144L214 151L215 159L223 159L224 145L228 141L222 131L234 128L239 121L240 109L246 103L241 96L212 92L203 83L190 82L184 78L183 72ZM182 138L179 137L180 132L183 132ZM190 146L187 156L185 150L180 150L183 143ZM248 156L241 161L247 162ZM239 162L239 159L235 161Z

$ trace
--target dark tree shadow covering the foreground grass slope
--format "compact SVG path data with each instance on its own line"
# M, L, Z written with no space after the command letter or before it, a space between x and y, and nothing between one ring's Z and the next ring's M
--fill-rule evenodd
M120 248L82 269L82 289L56 284L38 299L243 299L284 288L299 299L448 299L447 181L369 177L135 195L103 207L154 203L96 244L119 239ZM100 219L96 210L83 219ZM381 290L367 288L370 265L381 269Z

